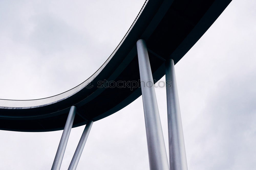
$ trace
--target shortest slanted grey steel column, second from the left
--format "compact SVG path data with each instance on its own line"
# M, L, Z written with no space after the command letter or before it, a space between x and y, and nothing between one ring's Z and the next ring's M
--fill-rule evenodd
M79 159L81 157L81 154L83 152L83 148L84 148L84 145L86 143L86 140L88 138L88 135L90 133L90 130L92 128L92 124L93 124L93 121L88 121L88 123L86 124L84 130L83 130L83 134L79 140L79 143L77 145L77 149L73 155L73 158L70 162L70 165L68 167L68 170L75 170L77 168L77 164L79 162Z

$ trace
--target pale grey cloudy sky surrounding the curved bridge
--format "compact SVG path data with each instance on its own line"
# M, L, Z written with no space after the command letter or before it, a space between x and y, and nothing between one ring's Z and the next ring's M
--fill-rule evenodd
M0 1L0 98L43 98L83 82L109 57L143 3ZM176 64L191 170L255 169L255 9L254 0L233 0ZM167 144L165 93L156 88ZM61 169L68 168L83 128L71 130ZM0 169L50 169L61 133L1 130ZM93 124L77 169L149 169L141 97Z

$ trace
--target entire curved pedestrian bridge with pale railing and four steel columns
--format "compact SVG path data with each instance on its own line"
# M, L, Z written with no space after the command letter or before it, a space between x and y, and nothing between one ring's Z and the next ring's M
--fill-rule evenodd
M174 64L230 2L146 0L113 53L86 81L47 98L0 99L0 129L22 132L64 129L52 165L52 169L60 169L71 128L87 124L69 166L69 169L76 169L92 123L119 111L142 95L150 169L187 169ZM170 82L171 85L166 88L169 165L153 86L164 75L166 84ZM99 86L99 82L106 81L121 82L125 86ZM134 86L127 82L137 83ZM149 85L141 84L140 87L140 82Z

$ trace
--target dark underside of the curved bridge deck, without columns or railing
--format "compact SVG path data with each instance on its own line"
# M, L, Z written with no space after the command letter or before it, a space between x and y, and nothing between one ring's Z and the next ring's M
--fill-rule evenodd
M97 88L97 82L140 79L136 41L144 39L149 50L153 78L164 72L164 60L177 63L219 17L231 0L149 0L131 32L106 67L71 97L47 106L0 109L0 129L45 132L64 128L69 108L77 107L73 127L100 120L124 108L141 95L140 88Z

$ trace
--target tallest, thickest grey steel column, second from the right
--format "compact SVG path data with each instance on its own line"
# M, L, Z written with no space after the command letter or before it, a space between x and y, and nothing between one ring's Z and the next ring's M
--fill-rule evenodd
M137 52L150 169L169 170L153 76L144 40L137 41Z

